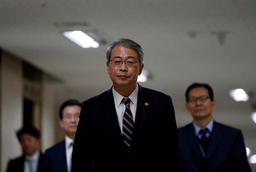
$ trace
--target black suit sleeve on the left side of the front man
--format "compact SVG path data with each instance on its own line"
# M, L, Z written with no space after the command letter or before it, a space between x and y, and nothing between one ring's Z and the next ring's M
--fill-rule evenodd
M92 171L92 121L89 121L88 102L83 102L72 153L71 172Z

